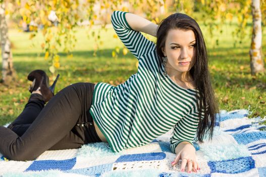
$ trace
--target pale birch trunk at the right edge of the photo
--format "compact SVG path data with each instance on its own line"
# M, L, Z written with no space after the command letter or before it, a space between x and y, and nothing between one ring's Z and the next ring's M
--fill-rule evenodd
M250 55L250 67L251 74L256 75L256 73L264 72L264 62L262 59L262 49L261 49L261 41L262 41L262 31L261 31L261 11L260 11L260 1L252 0L251 8L252 8L252 41L251 47L249 50Z

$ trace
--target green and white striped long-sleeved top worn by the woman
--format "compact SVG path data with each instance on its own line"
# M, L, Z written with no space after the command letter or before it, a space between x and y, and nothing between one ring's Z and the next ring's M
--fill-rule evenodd
M113 27L129 51L139 60L138 71L118 86L99 82L94 87L90 113L113 152L152 142L174 127L170 147L187 141L192 145L199 118L197 90L184 89L159 63L155 44L115 11Z

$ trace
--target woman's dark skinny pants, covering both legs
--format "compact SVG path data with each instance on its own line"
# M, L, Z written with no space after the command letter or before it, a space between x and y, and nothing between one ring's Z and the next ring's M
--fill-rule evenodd
M101 142L89 113L94 84L65 87L44 106L31 94L22 113L7 128L0 126L0 153L10 160L33 160L46 150L76 149Z

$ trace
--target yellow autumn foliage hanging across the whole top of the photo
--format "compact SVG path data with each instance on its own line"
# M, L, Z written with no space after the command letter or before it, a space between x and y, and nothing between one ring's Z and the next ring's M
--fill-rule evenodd
M37 27L42 28L44 40L41 47L52 73L60 67L58 53L61 48L69 57L72 57L71 51L77 41L74 29L79 25L87 25L87 36L94 39L93 55L96 56L102 46L103 38L99 32L95 33L91 29L96 24L102 30L106 30L105 27L107 23L110 23L110 15L114 10L142 13L142 16L144 14L154 23L159 23L169 13L182 12L196 18L195 11L200 11L203 14L204 25L208 27L208 34L216 41L216 45L219 45L219 40L217 36L214 36L214 31L222 33L221 26L225 21L233 23L233 17L237 17L238 23L238 28L232 32L235 45L236 41L241 43L242 38L247 34L246 26L251 18L251 0L7 0L6 3L9 7L6 13L12 14L13 18L20 17L20 25L32 24L30 30L35 32L30 35L30 39L36 35ZM261 1L261 10L265 23L266 13L263 13L266 12L265 0ZM52 13L55 13L56 20L48 18ZM114 38L117 38L116 34ZM114 46L112 56L117 58L121 52L124 55L128 53L126 48Z

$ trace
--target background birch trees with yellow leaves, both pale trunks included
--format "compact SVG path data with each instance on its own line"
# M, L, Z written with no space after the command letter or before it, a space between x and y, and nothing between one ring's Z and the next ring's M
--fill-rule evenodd
M100 36L100 30L95 33L90 29L97 27L104 30L111 22L114 10L136 13L157 24L175 12L186 13L195 19L201 18L209 31L205 36L213 39L214 47L219 45L214 31L223 33L222 25L226 21L232 23L236 21L238 24L232 33L232 43L236 45L237 42L242 42L242 38L247 34L246 26L252 20L252 40L250 50L246 51L246 54L250 55L251 74L256 75L265 71L261 52L261 24L262 27L266 24L265 0L6 0L0 2L2 82L6 84L15 77L7 19L23 31L31 32L29 39L35 37L38 31L42 32L44 40L41 42L41 48L45 53L44 59L49 63L49 71L55 73L56 69L60 68L60 49L63 48L63 52L72 57L71 52L78 40L75 32L79 26L87 26L87 37L94 38L93 55L96 55L104 39ZM114 47L111 55L117 57L121 50L124 55L127 54L127 49Z

